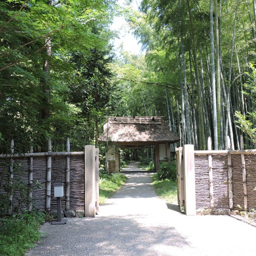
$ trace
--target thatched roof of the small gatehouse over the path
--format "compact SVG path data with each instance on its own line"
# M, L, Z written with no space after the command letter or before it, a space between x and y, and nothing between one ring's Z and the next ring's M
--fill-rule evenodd
M102 141L119 144L150 144L169 142L180 139L174 135L167 123L159 116L109 117L104 124Z

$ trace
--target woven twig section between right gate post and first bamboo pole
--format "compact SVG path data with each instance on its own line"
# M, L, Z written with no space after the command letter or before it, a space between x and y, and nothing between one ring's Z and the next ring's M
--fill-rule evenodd
M195 156L196 208L210 207L208 156Z

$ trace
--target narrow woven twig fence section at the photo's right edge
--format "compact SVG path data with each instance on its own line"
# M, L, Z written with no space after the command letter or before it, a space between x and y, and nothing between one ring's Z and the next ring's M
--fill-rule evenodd
M245 156L248 210L256 209L256 157Z

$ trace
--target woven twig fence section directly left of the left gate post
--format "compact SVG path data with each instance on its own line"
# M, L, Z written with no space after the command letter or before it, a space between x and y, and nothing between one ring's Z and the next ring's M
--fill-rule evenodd
M84 210L84 155L70 156L70 209Z

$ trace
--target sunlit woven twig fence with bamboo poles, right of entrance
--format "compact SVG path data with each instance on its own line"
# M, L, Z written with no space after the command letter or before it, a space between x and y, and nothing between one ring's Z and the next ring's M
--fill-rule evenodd
M244 150L241 138L241 150L194 154L197 209L256 209L256 150Z

